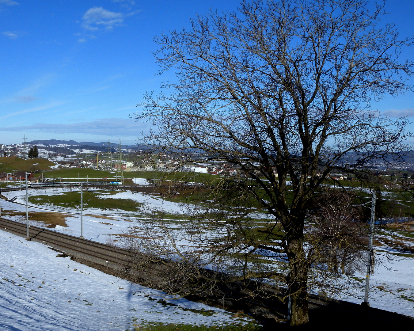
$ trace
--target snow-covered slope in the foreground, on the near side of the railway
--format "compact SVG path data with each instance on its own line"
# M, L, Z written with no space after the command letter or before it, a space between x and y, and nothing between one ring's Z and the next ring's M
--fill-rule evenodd
M168 298L163 292L57 257L43 244L4 231L0 243L0 330L132 330L149 322L242 322L222 309L185 299L165 304L159 301Z

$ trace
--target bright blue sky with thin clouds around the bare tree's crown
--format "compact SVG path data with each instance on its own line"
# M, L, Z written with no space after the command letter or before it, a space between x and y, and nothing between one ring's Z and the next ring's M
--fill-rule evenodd
M239 1L0 0L0 143L64 139L133 144L148 123L129 116L145 91L173 73L158 70L153 36L188 26L210 7ZM389 0L383 22L414 34L414 1ZM402 57L414 59L414 49ZM414 83L414 79L411 79ZM373 109L414 117L414 94ZM414 129L414 126L413 126Z

